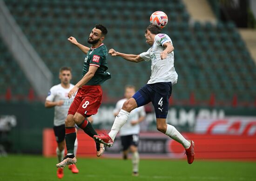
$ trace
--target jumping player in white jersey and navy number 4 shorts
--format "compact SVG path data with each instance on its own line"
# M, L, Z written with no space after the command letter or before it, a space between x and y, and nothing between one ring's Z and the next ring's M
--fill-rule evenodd
M156 25L147 27L145 37L146 43L151 45L147 52L139 55L116 52L114 49L108 52L112 56L120 56L135 63L151 60L151 76L148 83L123 104L108 135L94 136L94 140L111 147L116 134L127 122L130 112L152 102L155 108L157 130L181 143L186 151L188 163L191 164L195 158L194 142L186 140L174 126L166 123L172 84L176 84L178 79L174 68L172 41L167 34L162 34L161 28Z

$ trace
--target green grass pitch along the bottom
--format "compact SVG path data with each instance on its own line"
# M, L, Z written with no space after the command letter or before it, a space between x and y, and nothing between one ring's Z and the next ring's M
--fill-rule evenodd
M0 181L57 181L56 158L35 155L0 157ZM62 181L256 181L256 162L141 160L131 175L131 160L79 158L79 174L64 170Z

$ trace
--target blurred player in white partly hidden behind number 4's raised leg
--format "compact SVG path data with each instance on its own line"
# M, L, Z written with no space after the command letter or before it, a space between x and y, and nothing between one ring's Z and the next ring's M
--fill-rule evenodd
M117 116L125 101L135 94L135 86L127 85L123 99L119 100L115 105L114 116ZM136 108L130 112L127 123L120 129L121 144L123 149L123 159L127 159L129 150L132 152L133 175L139 175L140 157L138 153L140 125L146 116L144 106Z

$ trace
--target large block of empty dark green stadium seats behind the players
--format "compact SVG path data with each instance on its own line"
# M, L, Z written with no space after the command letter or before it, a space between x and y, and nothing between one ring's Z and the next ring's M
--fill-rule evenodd
M58 70L71 66L73 83L81 78L85 55L67 42L74 36L87 44L91 28L101 23L108 27L104 40L108 49L138 54L148 50L144 30L149 16L157 10L168 14L169 23L163 29L175 47L175 69L179 74L174 86L174 100L188 100L194 92L198 101L231 101L236 95L241 101L251 101L256 92L256 67L233 23L195 22L189 24L189 14L181 0L5 0L10 12L30 43L54 74L53 84L59 83ZM94 7L105 8L96 9ZM1 64L4 64L1 62ZM150 63L134 64L108 56L112 78L104 83L106 96L118 99L123 87L134 84L140 88L150 76ZM6 65L3 65L6 66ZM14 65L15 66L15 65ZM8 75L12 69L7 69ZM2 74L2 73L1 73ZM0 83L5 78L0 78ZM13 78L12 84L19 82ZM27 87L22 86L26 92ZM2 92L1 92L2 93Z

